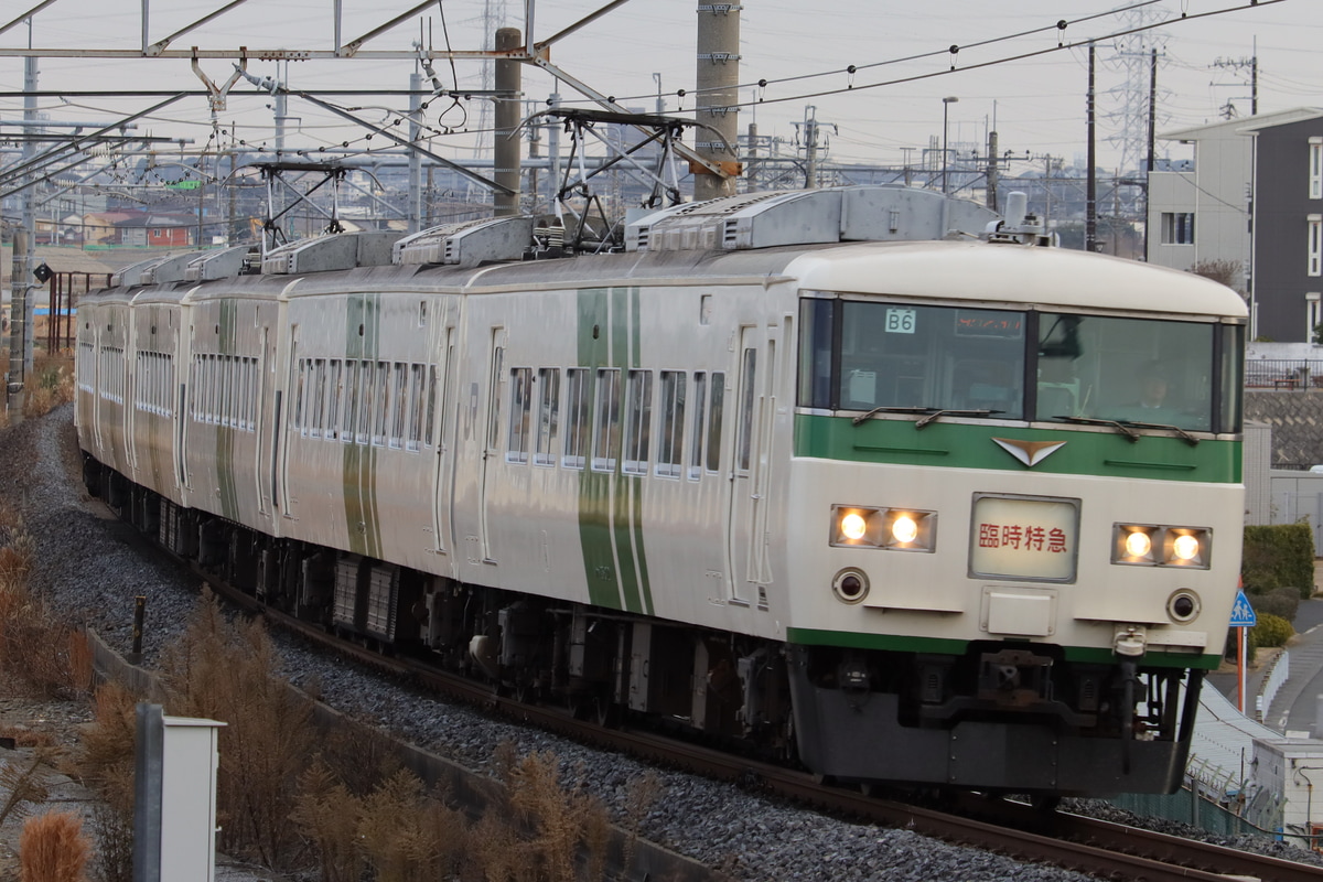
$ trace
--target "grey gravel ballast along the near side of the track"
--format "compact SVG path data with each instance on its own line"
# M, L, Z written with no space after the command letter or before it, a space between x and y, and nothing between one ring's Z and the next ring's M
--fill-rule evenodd
M70 406L0 432L0 504L22 513L38 543L33 584L120 652L130 648L134 598L147 596L144 656L151 664L183 629L197 599L197 579L164 558L126 542L131 528L86 499ZM483 768L492 747L511 741L520 754L554 751L564 775L581 779L623 812L632 779L648 768L537 730L492 721L402 688L373 673L279 640L291 681L316 684L323 700L352 715L380 721L401 737ZM823 817L750 795L737 787L656 771L663 793L643 834L738 879L1082 881L1066 870L1027 865L872 825ZM1237 845L1242 845L1237 842ZM1277 852L1302 860L1301 849Z

